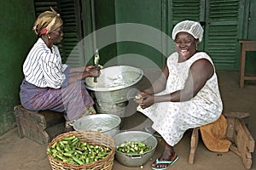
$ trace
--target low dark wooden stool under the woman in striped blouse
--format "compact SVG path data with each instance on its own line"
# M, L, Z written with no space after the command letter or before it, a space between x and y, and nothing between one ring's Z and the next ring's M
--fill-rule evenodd
M55 136L65 131L63 113L28 111L21 105L16 105L14 109L20 138L26 137L38 144L49 144Z

